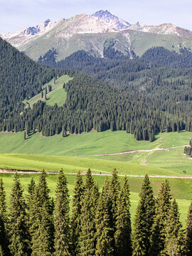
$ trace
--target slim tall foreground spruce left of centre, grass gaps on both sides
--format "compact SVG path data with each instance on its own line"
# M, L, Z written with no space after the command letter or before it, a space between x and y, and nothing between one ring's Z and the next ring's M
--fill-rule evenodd
M70 254L70 217L68 182L63 169L58 175L55 199L55 256L69 256Z

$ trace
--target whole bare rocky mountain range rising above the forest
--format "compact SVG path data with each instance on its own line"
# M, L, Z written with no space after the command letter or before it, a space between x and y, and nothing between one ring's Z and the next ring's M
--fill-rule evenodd
M147 26L137 22L130 25L109 11L97 11L92 16L80 14L58 22L47 20L38 26L8 33L3 38L33 60L53 48L58 61L78 50L86 50L98 58L106 58L106 53L133 58L156 46L176 53L181 48L192 48L191 31L170 23Z

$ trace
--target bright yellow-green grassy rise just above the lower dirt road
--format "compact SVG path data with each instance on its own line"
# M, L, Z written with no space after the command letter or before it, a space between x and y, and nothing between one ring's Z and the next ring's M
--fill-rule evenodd
M88 168L95 174L111 174L117 168L119 174L127 175L161 175L175 176L174 171L159 169L153 166L143 166L129 162L108 161L100 159L78 158L71 156L45 156L35 154L0 154L1 169L58 171L60 168L66 173L85 172Z

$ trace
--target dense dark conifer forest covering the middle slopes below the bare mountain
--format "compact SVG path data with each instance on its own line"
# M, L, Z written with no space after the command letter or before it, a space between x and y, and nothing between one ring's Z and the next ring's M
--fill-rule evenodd
M192 131L191 69L159 67L138 58L99 59L84 51L63 60L68 68L76 65L83 72L87 68L90 77L74 70L43 68L9 43L0 43L0 131L38 131L45 136L62 132L66 137L91 129L122 129L150 142L157 132ZM50 50L41 63L45 58L51 63L55 55L55 50ZM24 99L41 92L42 85L51 78L65 74L73 80L63 85L67 99L62 107L48 106L40 100L24 108Z

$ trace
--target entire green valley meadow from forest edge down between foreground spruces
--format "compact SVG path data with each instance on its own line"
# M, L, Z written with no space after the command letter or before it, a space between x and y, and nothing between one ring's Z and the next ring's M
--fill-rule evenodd
M145 151L133 154L119 154L107 156L106 154L121 151L171 148L188 144L191 132L171 132L157 134L154 142L136 141L132 134L124 131L117 132L88 132L82 134L70 134L63 138L61 135L43 137L41 134L33 134L26 140L23 132L0 133L0 168L17 169L26 171L58 172L63 168L68 178L70 198L73 195L73 184L75 174L78 170L85 174L88 168L92 170L100 189L105 180L104 174L111 174L117 168L122 175L144 175L151 176L181 176L180 179L169 178L171 193L180 208L181 221L184 224L188 206L191 203L192 180L185 176L192 176L191 159L183 156L183 147L168 149L167 151ZM103 154L103 156L90 156ZM86 157L80 157L86 156ZM186 171L186 174L183 174ZM103 174L103 175L100 175ZM4 178L6 186L7 203L14 174L0 174ZM21 174L21 183L25 190L31 177L38 181L38 174ZM85 176L83 176L85 177ZM121 176L119 180L122 181ZM57 175L48 174L48 186L50 196L54 196ZM132 220L139 200L139 189L142 177L129 177L131 191L131 213ZM151 178L154 195L157 196L163 178Z

